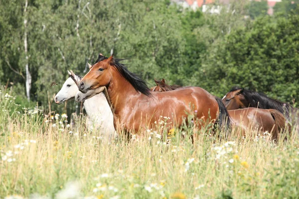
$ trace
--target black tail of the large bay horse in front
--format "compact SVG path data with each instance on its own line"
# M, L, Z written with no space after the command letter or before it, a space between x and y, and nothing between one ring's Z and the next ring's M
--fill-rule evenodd
M218 125L219 129L226 130L227 132L230 130L231 127L231 118L228 114L228 111L223 104L220 98L215 97L218 107L219 107L219 115L215 124Z

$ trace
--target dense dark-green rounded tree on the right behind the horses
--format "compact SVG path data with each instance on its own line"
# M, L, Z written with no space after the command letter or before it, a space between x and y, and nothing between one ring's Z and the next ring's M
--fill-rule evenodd
M201 84L219 96L240 85L283 101L298 99L298 23L298 15L263 17L237 28L206 59Z

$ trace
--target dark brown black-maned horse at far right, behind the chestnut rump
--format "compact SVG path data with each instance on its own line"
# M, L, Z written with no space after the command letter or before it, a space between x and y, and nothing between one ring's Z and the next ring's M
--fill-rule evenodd
M261 92L250 91L234 86L223 98L222 102L228 110L258 107L262 109L276 109L286 115L291 123L299 124L299 109L289 103L269 98Z

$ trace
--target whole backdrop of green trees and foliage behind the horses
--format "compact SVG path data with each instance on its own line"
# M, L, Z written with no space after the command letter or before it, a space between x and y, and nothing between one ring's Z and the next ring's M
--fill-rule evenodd
M29 0L31 99L62 111L52 100L67 70L84 75L87 62L113 51L117 58L128 58L124 63L149 86L154 78L165 78L169 84L200 86L221 97L240 85L294 102L299 96L299 16L296 10L288 16L298 4L292 2L276 4L283 15L266 17L265 0L233 0L221 6L220 14L182 9L169 0ZM0 84L14 85L25 100L25 3L1 4ZM67 108L75 111L75 102Z

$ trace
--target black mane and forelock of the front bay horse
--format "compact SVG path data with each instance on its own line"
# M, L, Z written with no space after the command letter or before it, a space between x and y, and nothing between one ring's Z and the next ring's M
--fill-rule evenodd
M108 59L108 57L99 55L95 64L98 62L101 62L105 59ZM151 93L150 93L149 87L147 86L147 83L139 75L136 75L136 74L130 72L127 69L125 64L121 64L120 62L122 60L125 60L125 59L113 59L111 65L113 65L117 69L117 71L134 87L134 89L137 92L140 92L140 93L150 97Z

